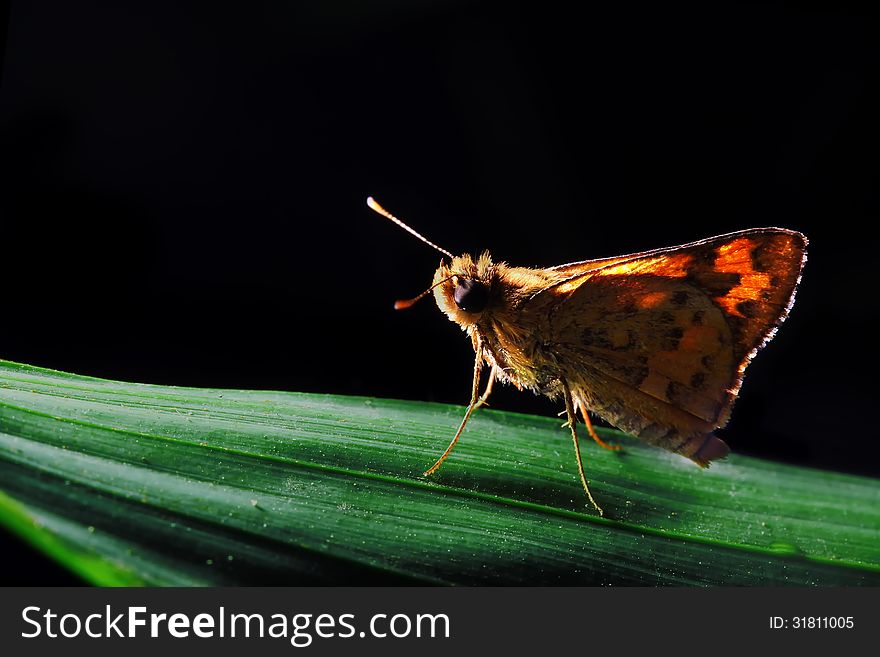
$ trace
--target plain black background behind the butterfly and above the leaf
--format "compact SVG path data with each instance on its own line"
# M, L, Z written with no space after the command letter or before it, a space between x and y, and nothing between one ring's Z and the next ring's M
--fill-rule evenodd
M783 226L810 261L722 435L876 475L880 24L856 6L15 3L0 357L464 403L464 335L391 307L439 254L368 194L516 265Z

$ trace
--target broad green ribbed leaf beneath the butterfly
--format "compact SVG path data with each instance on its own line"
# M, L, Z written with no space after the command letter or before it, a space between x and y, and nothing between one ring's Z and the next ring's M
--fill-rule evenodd
M880 585L880 488L556 418L0 361L0 524L95 584ZM590 443L590 444L586 444Z

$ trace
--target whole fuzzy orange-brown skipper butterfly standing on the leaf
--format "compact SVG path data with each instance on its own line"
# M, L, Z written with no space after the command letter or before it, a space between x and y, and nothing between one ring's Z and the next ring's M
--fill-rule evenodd
M593 507L577 435L578 418L599 445L595 413L622 431L700 466L729 453L714 434L730 418L752 358L794 303L807 238L754 228L615 258L546 269L511 267L488 252L454 256L368 205L444 254L428 290L470 337L471 400L450 455L496 381L562 398L581 484ZM490 369L483 392L483 368Z

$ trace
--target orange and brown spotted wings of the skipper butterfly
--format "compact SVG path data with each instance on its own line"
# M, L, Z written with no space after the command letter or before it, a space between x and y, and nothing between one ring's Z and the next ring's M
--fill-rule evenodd
M746 366L794 300L805 250L794 231L742 231L564 265L570 277L538 297L553 299L546 330L584 404L660 444L726 423Z

